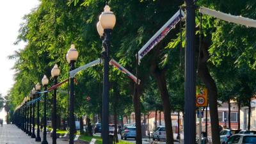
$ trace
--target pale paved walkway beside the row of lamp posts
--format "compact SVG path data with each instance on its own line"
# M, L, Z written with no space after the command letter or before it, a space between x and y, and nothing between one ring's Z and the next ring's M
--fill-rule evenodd
M41 139L43 139L43 134L40 134ZM47 134L47 141L49 144L52 143L49 134ZM68 141L61 141L57 139L58 144L68 144ZM31 138L20 130L16 125L3 125L0 127L0 144L41 144L41 142L36 142L35 138Z

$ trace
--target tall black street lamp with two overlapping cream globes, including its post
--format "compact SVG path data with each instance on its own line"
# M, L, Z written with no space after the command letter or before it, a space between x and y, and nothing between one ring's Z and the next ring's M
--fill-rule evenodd
M102 98L102 142L103 144L108 144L109 140L109 47L110 47L110 35L112 29L116 23L116 17L113 12L110 11L110 7L106 5L104 7L104 12L101 13L99 17L99 22L97 23L97 31L102 38L104 36L103 51L102 55L104 58L104 79L103 79L103 98ZM102 31L103 30L103 31Z

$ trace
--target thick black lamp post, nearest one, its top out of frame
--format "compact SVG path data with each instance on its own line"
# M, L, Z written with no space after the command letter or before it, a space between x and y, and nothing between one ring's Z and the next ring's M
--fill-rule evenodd
M196 65L195 65L195 0L186 3L186 49L185 49L185 118L184 143L196 142Z

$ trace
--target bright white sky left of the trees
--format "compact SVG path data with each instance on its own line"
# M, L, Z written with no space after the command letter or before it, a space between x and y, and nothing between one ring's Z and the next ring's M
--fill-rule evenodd
M0 2L0 93L4 96L14 83L15 71L12 70L12 67L15 60L8 60L8 56L12 55L14 51L23 49L26 45L24 42L13 45L19 35L22 17L36 8L40 2L38 0L0 0ZM1 111L0 118L4 118L4 115L4 111Z

